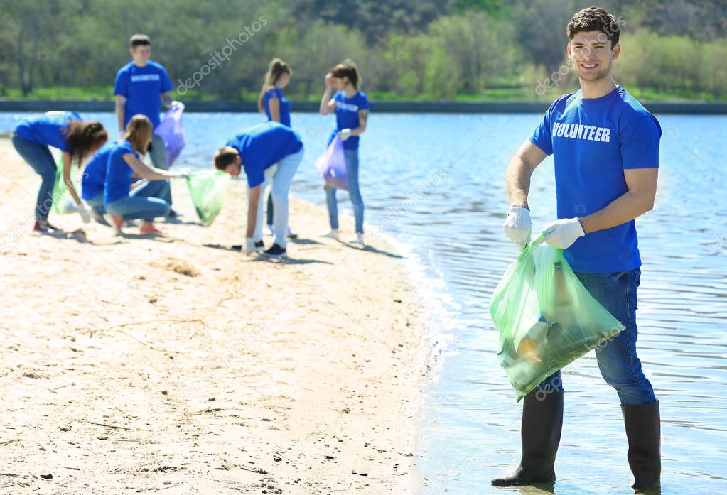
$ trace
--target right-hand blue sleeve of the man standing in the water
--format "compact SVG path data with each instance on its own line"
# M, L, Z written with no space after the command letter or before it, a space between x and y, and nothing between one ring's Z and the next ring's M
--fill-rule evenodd
M651 114L640 114L619 129L624 169L659 168L662 128Z

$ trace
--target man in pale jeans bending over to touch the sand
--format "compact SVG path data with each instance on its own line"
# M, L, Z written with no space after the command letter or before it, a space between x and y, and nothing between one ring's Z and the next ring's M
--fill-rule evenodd
M245 129L217 150L214 166L238 177L244 169L247 176L248 206L246 253L263 251L262 191L270 185L273 196L273 246L265 251L271 258L287 257L288 193L293 176L303 158L303 142L297 132L280 122L267 121Z

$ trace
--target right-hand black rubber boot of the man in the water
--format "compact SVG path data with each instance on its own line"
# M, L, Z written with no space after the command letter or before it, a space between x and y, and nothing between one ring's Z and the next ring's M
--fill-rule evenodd
M629 466L634 475L635 491L659 491L662 475L661 419L659 401L642 406L621 406L629 440Z

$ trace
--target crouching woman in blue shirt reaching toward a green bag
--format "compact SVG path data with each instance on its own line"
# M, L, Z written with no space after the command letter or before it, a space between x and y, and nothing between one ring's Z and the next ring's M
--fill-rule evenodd
M103 183L103 204L106 212L111 215L111 225L119 233L125 220L137 218L143 220L140 233L161 233L161 230L154 227L153 220L169 214L169 203L153 196L161 194L160 189L166 186L165 180L187 175L184 171L157 169L141 161L140 156L146 153L151 142L152 130L148 117L133 116L126 125L124 140L116 143L108 155ZM131 190L132 175L150 182Z

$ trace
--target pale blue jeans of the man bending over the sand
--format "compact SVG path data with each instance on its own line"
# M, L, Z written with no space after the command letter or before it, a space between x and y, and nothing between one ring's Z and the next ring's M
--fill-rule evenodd
M260 187L260 201L257 204L257 217L252 238L262 241L262 225L265 220L265 189L270 185L270 197L273 198L273 243L285 247L288 243L288 193L293 176L303 159L301 148L297 153L288 155L277 164L265 169L265 182Z

